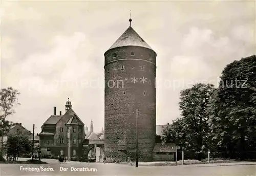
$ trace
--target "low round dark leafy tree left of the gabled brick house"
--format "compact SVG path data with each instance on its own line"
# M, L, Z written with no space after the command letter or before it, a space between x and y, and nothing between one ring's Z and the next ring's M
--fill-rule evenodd
M13 156L14 161L17 161L18 157L31 152L32 142L30 141L29 135L17 131L15 134L8 135L7 144L5 146L7 154Z

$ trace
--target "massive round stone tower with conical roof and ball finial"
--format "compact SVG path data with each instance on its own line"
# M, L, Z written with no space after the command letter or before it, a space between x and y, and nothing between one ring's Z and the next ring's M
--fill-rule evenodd
M105 57L104 155L152 161L156 136L155 51L130 27ZM136 111L138 110L138 111ZM136 113L138 112L138 113Z

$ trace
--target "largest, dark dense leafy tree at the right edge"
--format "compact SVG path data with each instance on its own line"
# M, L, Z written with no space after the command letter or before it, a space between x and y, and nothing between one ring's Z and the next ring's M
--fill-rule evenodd
M256 147L256 56L233 61L222 71L209 107L212 140L222 150L241 152Z

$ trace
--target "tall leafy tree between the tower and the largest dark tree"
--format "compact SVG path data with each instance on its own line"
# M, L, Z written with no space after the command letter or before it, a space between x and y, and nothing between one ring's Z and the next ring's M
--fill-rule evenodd
M190 150L201 151L208 147L205 146L209 134L207 107L215 90L213 84L199 83L181 91L179 105L186 133L189 135L186 136L188 138L186 141Z

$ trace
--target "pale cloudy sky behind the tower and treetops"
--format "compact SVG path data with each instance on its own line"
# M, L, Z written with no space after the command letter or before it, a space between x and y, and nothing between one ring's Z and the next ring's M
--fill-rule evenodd
M70 98L84 123L104 126L104 52L132 27L157 53L157 124L180 116L179 93L218 82L255 54L255 1L15 1L1 6L1 86L20 92L9 120L36 133Z

